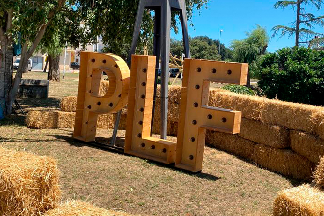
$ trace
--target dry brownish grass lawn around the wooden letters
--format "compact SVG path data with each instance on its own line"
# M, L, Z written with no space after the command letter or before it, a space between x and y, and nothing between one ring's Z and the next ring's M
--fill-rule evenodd
M23 78L46 79L47 75L29 72ZM58 109L62 97L77 94L77 78L66 74L60 83L51 82L46 100L19 102L25 110ZM301 184L211 147L205 148L203 172L186 173L77 142L71 138L72 129L28 129L25 117L17 113L0 121L0 144L56 158L63 200L87 200L101 208L143 216L262 216L272 215L279 190ZM99 130L98 136L111 133ZM124 135L119 131L119 143Z

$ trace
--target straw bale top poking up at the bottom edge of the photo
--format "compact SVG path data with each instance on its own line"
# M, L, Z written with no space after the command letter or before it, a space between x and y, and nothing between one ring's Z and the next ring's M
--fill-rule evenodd
M106 210L87 202L68 200L58 208L49 210L43 216L131 216L125 212Z

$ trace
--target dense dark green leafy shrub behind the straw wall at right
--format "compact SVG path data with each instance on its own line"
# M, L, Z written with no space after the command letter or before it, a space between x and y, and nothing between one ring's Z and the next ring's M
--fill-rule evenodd
M268 98L324 105L324 51L284 48L260 64L258 87Z

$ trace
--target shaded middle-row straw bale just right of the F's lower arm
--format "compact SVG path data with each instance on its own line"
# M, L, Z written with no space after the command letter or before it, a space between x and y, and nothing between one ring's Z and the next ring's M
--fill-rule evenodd
M289 130L247 118L241 119L241 131L238 136L274 148L289 147Z

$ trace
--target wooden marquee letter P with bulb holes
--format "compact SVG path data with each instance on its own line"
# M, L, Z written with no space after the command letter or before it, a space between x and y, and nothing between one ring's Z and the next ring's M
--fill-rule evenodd
M117 112L127 104L130 71L114 54L81 52L79 89L73 137L92 142L96 138L98 115ZM109 78L106 94L100 96L103 74Z

